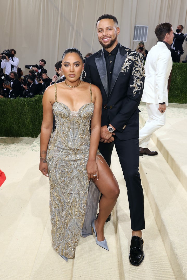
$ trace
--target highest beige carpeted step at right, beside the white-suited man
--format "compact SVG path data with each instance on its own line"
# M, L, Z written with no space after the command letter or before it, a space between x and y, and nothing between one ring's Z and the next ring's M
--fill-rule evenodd
M140 103L140 122L147 120L147 109ZM166 124L153 133L152 139L187 191L187 104L169 104Z

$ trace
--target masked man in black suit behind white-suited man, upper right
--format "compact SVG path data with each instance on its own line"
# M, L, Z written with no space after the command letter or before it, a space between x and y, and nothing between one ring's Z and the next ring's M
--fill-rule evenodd
M171 57L173 62L180 62L181 55L183 54L183 42L184 42L184 34L183 25L179 24L176 29L176 33L174 34L173 43L171 45Z

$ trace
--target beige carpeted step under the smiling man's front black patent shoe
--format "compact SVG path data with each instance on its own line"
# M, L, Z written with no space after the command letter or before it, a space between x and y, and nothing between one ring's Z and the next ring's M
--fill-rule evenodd
M144 211L146 229L142 231L144 239L145 259L142 264L135 267L130 264L128 253L131 241L130 214L126 185L123 179L119 159L114 151L111 168L120 186L120 196L116 204L116 231L118 258L121 267L122 279L177 279L170 262L160 232L157 228L153 212L144 190ZM141 174L141 173L140 173Z

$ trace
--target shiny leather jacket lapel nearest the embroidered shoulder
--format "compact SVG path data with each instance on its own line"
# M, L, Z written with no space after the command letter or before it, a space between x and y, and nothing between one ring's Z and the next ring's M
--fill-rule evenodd
M109 95L111 94L112 92L112 89L116 83L116 80L117 80L117 77L119 76L119 73L121 71L121 68L124 64L124 61L126 60L126 57L127 57L127 54L126 55L121 55L121 53L119 53L119 50L116 54L116 59L115 59L115 62L114 62L114 67L113 67L113 73L112 73L112 78L111 78L111 81L110 81L110 88L109 88Z

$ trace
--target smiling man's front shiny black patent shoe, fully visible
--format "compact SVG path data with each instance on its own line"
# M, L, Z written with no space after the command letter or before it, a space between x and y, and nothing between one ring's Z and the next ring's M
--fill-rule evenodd
M132 265L140 265L140 263L144 260L144 249L143 249L144 241L142 238L138 236L132 236L129 260Z

